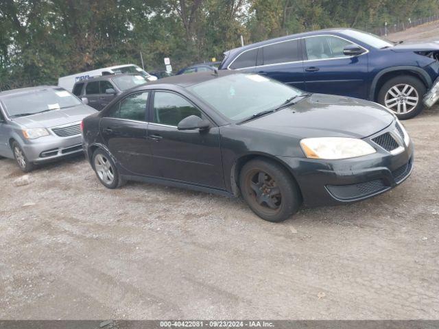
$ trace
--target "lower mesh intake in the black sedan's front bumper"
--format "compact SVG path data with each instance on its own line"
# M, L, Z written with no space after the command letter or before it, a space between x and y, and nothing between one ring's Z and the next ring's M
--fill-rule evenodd
M352 185L328 185L329 192L340 200L355 200L379 193L388 188L383 180L370 180L369 182Z

